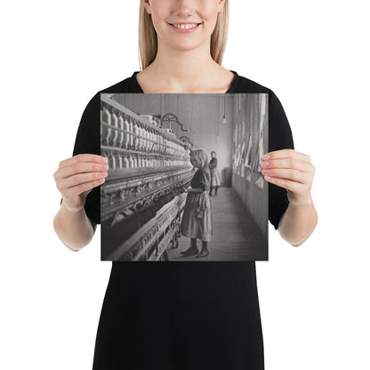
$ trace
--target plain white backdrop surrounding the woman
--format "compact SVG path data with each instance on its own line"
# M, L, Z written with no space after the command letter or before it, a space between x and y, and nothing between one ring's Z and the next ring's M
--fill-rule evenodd
M257 262L266 369L369 369L366 1L235 1L225 68L282 101L317 167L302 246L270 227ZM139 70L139 0L2 4L3 369L89 369L108 283L99 229L79 253L52 229L52 173L93 94ZM9 161L9 162L8 162Z

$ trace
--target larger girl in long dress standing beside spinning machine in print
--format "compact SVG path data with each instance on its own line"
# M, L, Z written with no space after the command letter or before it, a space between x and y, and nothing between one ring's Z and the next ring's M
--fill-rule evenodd
M190 162L197 168L190 181L190 189L184 189L188 195L182 213L181 235L190 237L190 246L181 254L197 257L208 255L208 242L211 241L212 209L208 197L211 173L208 166L208 157L204 150L196 149L190 152ZM202 250L197 250L197 238L202 240Z

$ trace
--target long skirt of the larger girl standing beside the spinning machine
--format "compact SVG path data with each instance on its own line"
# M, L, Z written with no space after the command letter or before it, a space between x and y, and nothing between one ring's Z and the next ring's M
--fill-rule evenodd
M203 209L203 218L196 216L197 208ZM208 191L188 193L181 220L181 235L211 241L213 234L212 208Z

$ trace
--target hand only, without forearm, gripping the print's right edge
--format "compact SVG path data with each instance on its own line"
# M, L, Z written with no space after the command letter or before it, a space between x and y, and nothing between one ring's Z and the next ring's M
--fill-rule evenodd
M282 149L266 153L262 159L261 173L266 181L285 188L293 205L310 203L316 169L309 156L293 149Z

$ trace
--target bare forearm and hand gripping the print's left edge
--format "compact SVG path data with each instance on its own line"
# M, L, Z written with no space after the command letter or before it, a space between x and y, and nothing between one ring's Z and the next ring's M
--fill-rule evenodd
M106 158L79 154L60 162L54 180L63 201L53 226L61 242L71 251L79 251L93 238L96 224L86 216L84 204L93 188L107 177Z

